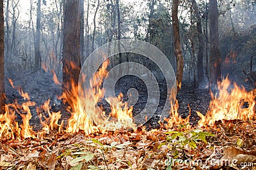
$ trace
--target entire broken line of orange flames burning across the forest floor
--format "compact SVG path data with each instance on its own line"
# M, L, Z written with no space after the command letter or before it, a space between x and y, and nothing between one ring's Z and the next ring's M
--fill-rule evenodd
M84 134L92 134L95 132L116 131L124 129L136 130L136 124L132 120L132 107L122 101L123 94L118 97L108 97L106 101L111 106L111 113L107 115L100 110L98 102L104 97L104 89L102 83L104 78L108 76L107 67L109 60L103 62L102 67L95 73L93 79L90 80L90 88L84 89L82 94L79 94L79 89L82 85L78 84L78 88L74 81L71 82L70 91L62 94L60 97L63 101L67 101L71 105L67 111L71 113L68 119L65 132L77 133L83 131ZM56 74L53 73L53 78L60 85ZM85 75L83 75L83 80ZM6 104L6 111L0 115L0 138L22 140L25 138L39 138L44 134L49 134L53 131L63 132L63 120L61 120L61 111L51 111L50 100L45 101L42 106L36 106L35 102L30 101L29 95L23 92L21 88L16 88L13 81L9 80L13 88L19 90L20 96L24 98L24 103L19 104L17 101L12 104ZM214 125L218 120L253 120L255 118L255 90L247 92L244 88L240 88L234 83L234 89L228 89L231 82L225 78L218 83L218 94L211 93L211 103L209 111L206 115L196 112L201 120L199 126ZM179 84L181 85L181 84ZM230 92L229 92L230 91ZM172 94L172 92L171 92ZM70 97L67 97L70 96ZM173 95L171 95L172 97ZM190 128L189 116L185 119L181 118L178 113L179 104L175 99L170 98L173 109L170 111L167 128L174 125L185 124ZM33 131L33 127L29 125L29 120L32 118L31 107L36 107L38 117L42 124L40 132ZM190 108L189 108L190 110ZM17 115L22 118L22 123L18 124Z

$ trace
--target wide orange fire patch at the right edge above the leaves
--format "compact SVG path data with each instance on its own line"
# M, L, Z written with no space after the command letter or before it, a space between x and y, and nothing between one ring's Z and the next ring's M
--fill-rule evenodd
M213 125L218 120L253 120L255 118L255 93L247 92L234 83L234 89L228 92L231 82L228 77L218 83L219 94L212 94L209 111L206 115L197 112L201 120L198 125Z

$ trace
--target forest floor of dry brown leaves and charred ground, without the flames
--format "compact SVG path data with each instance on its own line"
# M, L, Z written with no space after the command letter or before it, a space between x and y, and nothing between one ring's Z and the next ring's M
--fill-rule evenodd
M61 109L61 101L56 97L60 96L61 87L54 84L51 73L31 73L13 78L13 82L30 94L36 106L50 99L52 111ZM123 87L128 88L129 82L124 81ZM15 99L24 102L16 89L6 83L8 103ZM125 89L117 90L120 91ZM158 112L163 108L162 98ZM145 127L136 131L90 135L51 131L40 138L22 141L1 138L0 166L2 169L256 169L255 120L220 121L212 127L199 128L196 111L204 115L207 112L211 101L208 89L195 89L193 83L185 82L177 99L182 118L188 117L191 110L190 125L166 129L157 123L156 111ZM142 95L134 111L140 111L145 102L147 95ZM40 129L36 106L31 107L33 117L29 122L35 131ZM19 115L17 120L21 120Z

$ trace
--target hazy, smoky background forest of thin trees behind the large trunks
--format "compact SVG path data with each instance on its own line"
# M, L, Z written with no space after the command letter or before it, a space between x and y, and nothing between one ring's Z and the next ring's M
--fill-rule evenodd
M44 69L61 80L63 47L62 0L4 1L4 60L7 77ZM117 6L118 3L118 6ZM198 48L204 44L204 75L209 74L209 16L205 1L181 1L179 29L184 57L183 80L195 81ZM218 1L222 74L252 71L256 52L256 1ZM95 0L81 3L81 63L95 48L120 38L156 45L175 69L172 2ZM196 24L200 20L202 37ZM119 33L120 31L120 33ZM132 60L122 57L120 60ZM120 62L117 58L111 62ZM139 59L140 60L140 59ZM145 60L139 62L145 64ZM237 79L237 78L236 78ZM237 79L239 81L239 78Z

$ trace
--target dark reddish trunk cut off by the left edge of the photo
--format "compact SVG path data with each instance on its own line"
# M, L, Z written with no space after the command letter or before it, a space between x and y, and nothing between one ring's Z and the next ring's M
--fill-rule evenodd
M0 113L4 113L4 8L3 0L0 1Z

